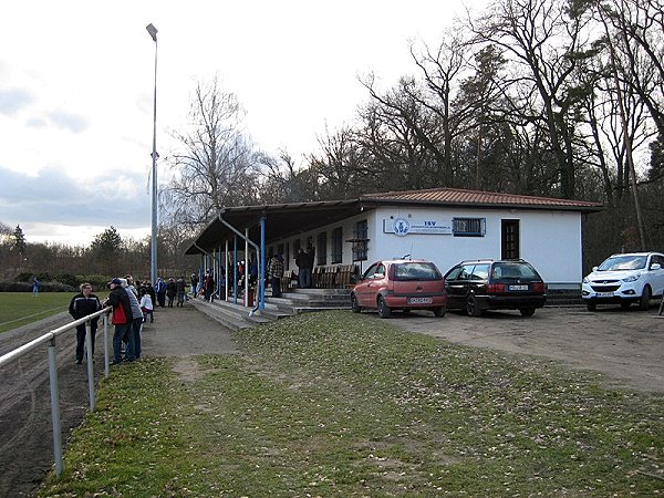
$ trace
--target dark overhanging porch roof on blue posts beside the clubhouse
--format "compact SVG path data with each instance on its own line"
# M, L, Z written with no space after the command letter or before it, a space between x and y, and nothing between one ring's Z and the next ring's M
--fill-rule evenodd
M219 248L221 241L232 240L235 234L221 222L220 217L242 234L248 228L249 238L256 242L260 240L260 219L264 217L266 242L271 243L341 221L362 212L363 209L360 199L228 207L221 209L200 231L185 253L212 252Z

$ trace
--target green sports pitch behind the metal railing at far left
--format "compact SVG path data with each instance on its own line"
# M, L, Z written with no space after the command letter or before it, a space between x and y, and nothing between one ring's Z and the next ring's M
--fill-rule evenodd
M0 332L66 311L73 292L0 292Z

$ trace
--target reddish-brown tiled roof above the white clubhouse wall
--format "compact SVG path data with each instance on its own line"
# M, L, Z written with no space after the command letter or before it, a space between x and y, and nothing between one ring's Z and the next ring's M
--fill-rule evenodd
M364 203L376 204L429 204L440 206L478 206L478 207L521 207L531 209L564 209L577 211L595 211L603 208L601 203L585 200L557 199L552 197L520 196L495 191L461 190L457 188L432 188L428 190L388 191L383 194L365 194Z

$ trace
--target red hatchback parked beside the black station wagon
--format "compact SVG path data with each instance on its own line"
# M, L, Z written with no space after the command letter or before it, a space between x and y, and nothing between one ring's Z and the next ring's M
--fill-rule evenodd
M374 309L381 318L388 318L392 310L429 310L445 317L446 303L443 273L424 260L376 261L351 292L354 313Z

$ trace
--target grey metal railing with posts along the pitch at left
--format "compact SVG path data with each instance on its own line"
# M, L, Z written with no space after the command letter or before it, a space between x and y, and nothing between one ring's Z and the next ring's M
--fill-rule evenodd
M95 395L94 395L94 369L92 364L92 331L90 322L95 318L103 318L104 330L104 376L110 375L110 357L108 357L108 313L112 308L107 307L101 311L89 314L74 322L54 329L27 344L23 344L15 350L0 356L0 367L8 365L14 360L20 359L24 354L35 350L42 344L49 343L49 382L51 387L51 423L53 426L53 458L55 460L55 474L60 477L63 469L62 463L62 426L60 422L60 386L58 383L58 363L55 351L55 339L79 325L85 324L85 350L87 352L87 385L90 397L90 411L94 412Z

